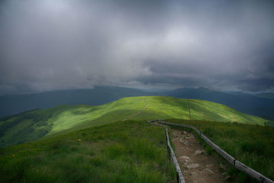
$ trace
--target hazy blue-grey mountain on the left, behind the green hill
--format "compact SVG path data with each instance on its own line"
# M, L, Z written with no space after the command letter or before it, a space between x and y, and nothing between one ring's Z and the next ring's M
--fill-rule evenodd
M0 96L0 117L25 110L67 105L102 105L123 97L150 95L133 88L95 86L93 89L58 90L45 93Z

